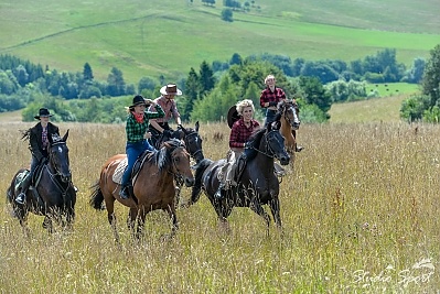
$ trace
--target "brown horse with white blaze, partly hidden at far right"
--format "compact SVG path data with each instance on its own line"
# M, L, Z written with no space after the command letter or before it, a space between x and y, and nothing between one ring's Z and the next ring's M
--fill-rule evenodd
M278 104L278 117L281 121L280 133L285 137L286 150L290 154L292 164L294 163L294 152L297 150L296 131L301 124L299 112L298 105L293 100L282 100Z

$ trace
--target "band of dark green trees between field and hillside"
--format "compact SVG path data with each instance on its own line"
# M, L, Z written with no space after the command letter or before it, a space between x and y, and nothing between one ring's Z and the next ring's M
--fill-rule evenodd
M416 58L412 67L407 69L397 63L396 50L390 48L350 63L339 59L291 61L288 56L268 53L243 58L234 53L229 61L214 61L212 64L204 61L198 70L192 67L186 77L180 78L178 85L184 96L179 97L178 105L185 121L222 120L230 105L239 99L253 99L258 106L265 76L275 74L277 85L289 98L299 101L301 118L321 122L330 118L328 111L333 102L368 98L372 94L366 92L366 83L421 83L425 67L430 69L432 65ZM127 84L122 72L116 67L111 68L107 80L99 81L94 78L88 63L81 73L66 73L47 66L43 70L41 65L29 61L0 55L0 111L25 107L30 110L47 104L60 120L119 122L125 120L126 112L121 109L124 104L129 104L129 97L138 92L144 97L158 97L163 84L163 76L141 77L137 86ZM412 109L412 105L414 101L406 110ZM104 115L93 115L94 107L103 107ZM420 115L415 116L411 111L410 119L421 119ZM262 117L262 112L257 116ZM32 118L31 111L23 111L24 120Z

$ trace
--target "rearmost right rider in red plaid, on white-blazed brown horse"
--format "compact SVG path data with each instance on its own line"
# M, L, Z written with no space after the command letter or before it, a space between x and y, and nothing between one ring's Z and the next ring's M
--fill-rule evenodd
M273 75L268 75L265 78L266 88L261 91L260 95L260 106L261 108L266 108L266 119L265 127L268 123L271 123L276 119L277 115L277 105L286 99L285 90L280 87L276 87L276 79ZM292 130L293 138L297 140L297 131ZM304 148L297 144L296 152L301 152Z

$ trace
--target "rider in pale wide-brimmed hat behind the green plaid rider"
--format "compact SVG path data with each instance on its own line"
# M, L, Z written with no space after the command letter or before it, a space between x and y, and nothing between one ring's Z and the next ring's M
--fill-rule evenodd
M149 131L152 135L150 141L153 146L157 146L157 142L160 140L161 135L171 138L172 129L168 123L171 118L174 118L175 123L182 127L180 113L174 100L175 96L182 95L182 91L178 89L175 84L168 84L160 89L160 94L161 96L154 99L154 102L162 107L165 115L164 117L150 120ZM150 106L149 111L154 111L152 106Z

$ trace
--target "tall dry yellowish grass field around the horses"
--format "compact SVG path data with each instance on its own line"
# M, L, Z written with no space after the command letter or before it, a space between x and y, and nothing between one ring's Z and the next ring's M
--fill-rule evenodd
M18 130L1 123L6 192L29 164ZM219 230L205 196L179 209L181 229L162 241L170 221L149 215L132 243L117 205L122 249L106 213L88 206L101 164L124 151L124 126L60 124L79 188L73 232L49 236L30 216L25 238L0 202L0 293L437 293L440 290L440 162L437 126L398 122L301 126L294 168L281 183L283 238L272 225L237 208L232 233ZM204 153L219 159L224 124L203 124ZM183 190L186 199L190 189ZM4 196L3 196L4 197Z

